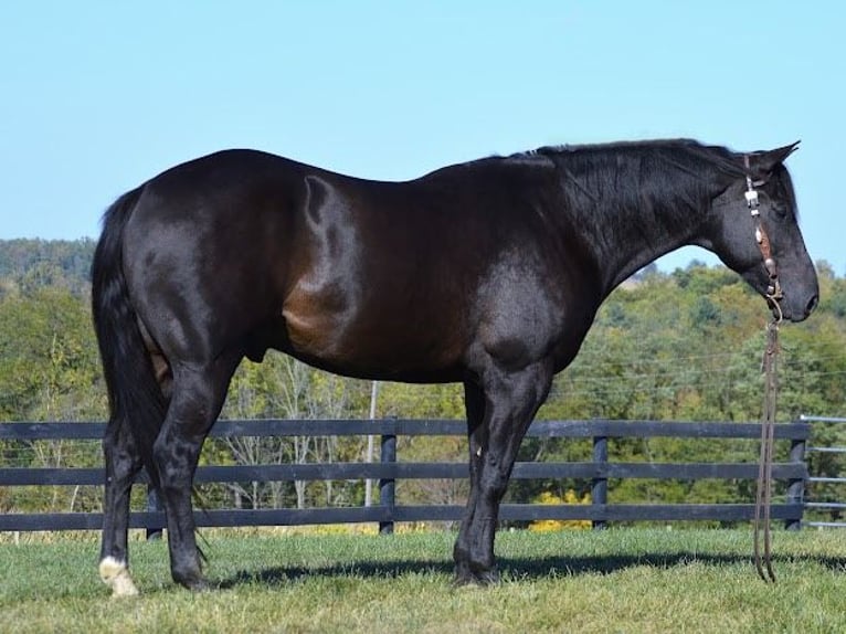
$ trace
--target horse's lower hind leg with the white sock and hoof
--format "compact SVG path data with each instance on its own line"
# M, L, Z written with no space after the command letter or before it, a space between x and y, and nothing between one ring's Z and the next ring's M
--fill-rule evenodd
M141 468L141 458L125 419L109 421L103 438L103 453L106 463L106 486L99 575L112 587L115 596L138 594L129 577L127 531L129 493L133 480Z

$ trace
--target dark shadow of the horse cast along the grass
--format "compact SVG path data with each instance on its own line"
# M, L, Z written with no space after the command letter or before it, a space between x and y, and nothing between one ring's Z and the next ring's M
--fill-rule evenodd
M846 557L827 556L773 556L773 563L808 561L833 571L846 571ZM612 574L634 567L651 567L656 569L676 568L690 563L705 566L730 566L749 563L752 558L742 554L709 554L702 552L674 553L642 553L599 557L544 557L544 558L508 558L498 559L499 571L505 580L538 580L556 577L575 577L580 574ZM352 561L343 566L327 566L317 568L292 567L267 568L260 571L240 571L220 582L219 588L232 589L243 584L261 583L266 585L284 585L309 577L359 577L366 579L395 579L406 574L443 574L451 575L453 564L447 561L426 560L393 560L380 562Z

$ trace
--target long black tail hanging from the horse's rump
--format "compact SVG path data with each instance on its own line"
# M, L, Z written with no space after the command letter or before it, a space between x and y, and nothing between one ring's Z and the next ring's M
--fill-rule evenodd
M141 191L125 193L103 216L103 234L92 265L92 313L108 390L109 422L120 422L130 430L150 479L158 486L152 445L167 403L141 339L123 264L124 228Z

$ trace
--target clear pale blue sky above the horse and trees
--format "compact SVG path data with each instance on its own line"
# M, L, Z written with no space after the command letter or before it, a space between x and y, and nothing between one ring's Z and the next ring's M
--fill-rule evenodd
M549 144L802 139L808 251L844 274L844 7L3 2L0 239L94 237L123 191L228 147L405 179Z

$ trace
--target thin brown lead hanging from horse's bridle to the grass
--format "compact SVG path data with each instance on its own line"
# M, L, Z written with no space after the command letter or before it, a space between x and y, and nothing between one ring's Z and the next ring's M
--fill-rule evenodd
M766 348L761 362L761 370L764 373L764 409L761 420L761 456L758 463L758 490L755 492L754 556L758 575L768 583L775 583L775 572L771 559L770 508L772 504L775 401L779 390L775 362L779 355L780 321L781 319L776 318L766 326ZM762 533L763 557L761 556Z

